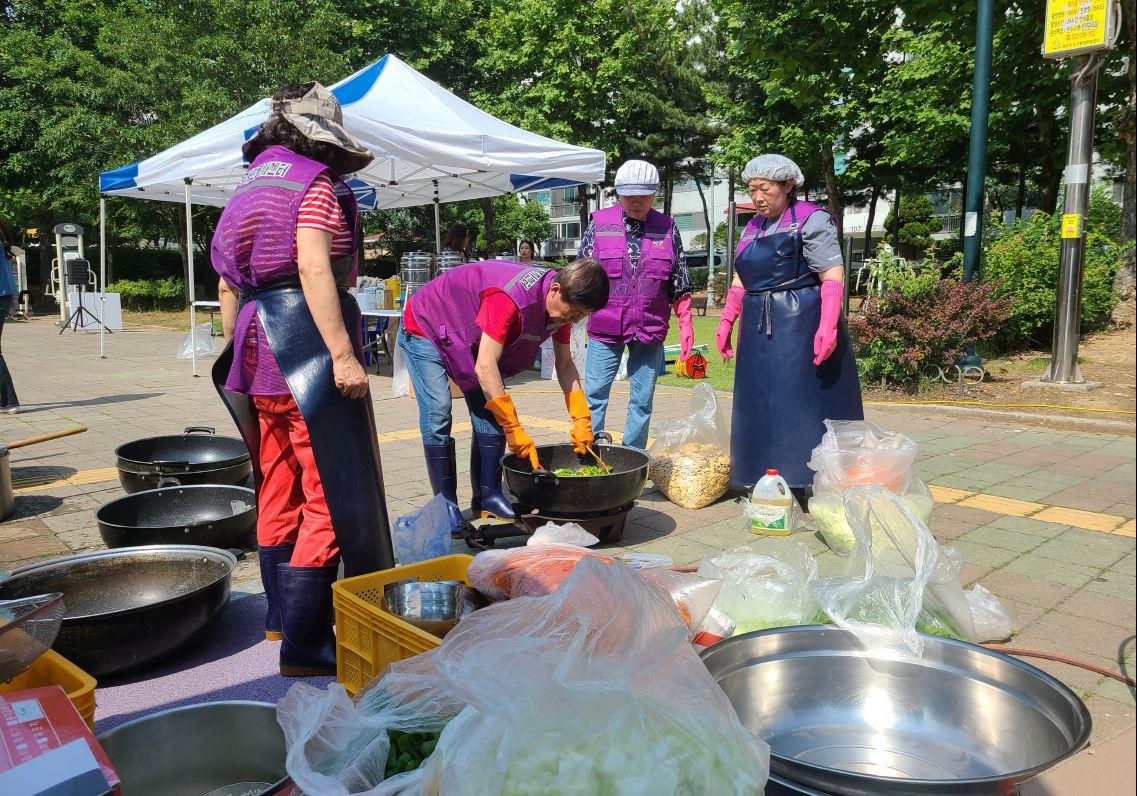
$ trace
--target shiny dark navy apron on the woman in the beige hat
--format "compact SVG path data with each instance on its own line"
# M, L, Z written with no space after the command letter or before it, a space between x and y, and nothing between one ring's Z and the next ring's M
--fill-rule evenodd
M395 566L395 552L371 398L345 398L337 389L332 357L298 282L242 295L242 306L252 299L257 301L257 320L268 347L308 426L327 513L335 531L335 544L343 559L343 574L351 578L391 569ZM362 362L359 334L358 331L352 333L352 330L359 329L359 307L351 296L340 292L340 309L356 356ZM214 363L213 380L249 447L259 489L260 429L257 412L249 396L225 389L232 364L231 341Z

